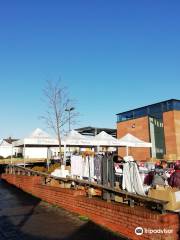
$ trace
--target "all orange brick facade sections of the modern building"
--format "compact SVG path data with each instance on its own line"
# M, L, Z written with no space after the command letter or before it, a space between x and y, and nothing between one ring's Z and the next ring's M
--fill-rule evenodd
M165 158L167 160L180 159L180 111L168 111L163 113ZM148 116L117 123L117 137L121 138L127 133L143 141L151 141ZM125 156L125 148L118 150L120 156ZM131 148L130 155L136 160L148 160L151 157L149 148Z

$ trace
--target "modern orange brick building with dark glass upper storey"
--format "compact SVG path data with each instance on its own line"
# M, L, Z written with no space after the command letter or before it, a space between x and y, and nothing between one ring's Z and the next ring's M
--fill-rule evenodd
M180 159L180 100L170 99L118 113L117 138L126 133L152 142L152 149L130 149L136 160ZM118 153L124 156L125 149L119 148Z

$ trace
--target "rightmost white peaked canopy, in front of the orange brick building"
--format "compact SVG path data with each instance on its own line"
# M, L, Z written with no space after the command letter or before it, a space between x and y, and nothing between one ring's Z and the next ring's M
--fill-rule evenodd
M152 143L144 142L141 139L128 133L124 137L118 139L120 146L127 147L152 147Z

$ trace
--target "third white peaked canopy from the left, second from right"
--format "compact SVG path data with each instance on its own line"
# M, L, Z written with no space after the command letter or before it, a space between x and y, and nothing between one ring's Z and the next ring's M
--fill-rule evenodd
M94 144L96 146L120 146L117 138L102 131L94 137Z

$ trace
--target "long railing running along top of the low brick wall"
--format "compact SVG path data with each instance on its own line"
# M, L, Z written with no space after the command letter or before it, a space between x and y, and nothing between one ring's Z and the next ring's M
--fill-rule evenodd
M71 186L73 189L78 189L78 187L84 186L86 189L94 188L99 189L102 192L101 197L103 198L103 194L106 194L106 200L112 201L114 200L114 196L119 196L122 198L121 203L126 203L129 206L133 207L135 205L144 206L149 209L153 209L156 211L159 211L161 213L165 212L165 205L168 203L168 201L162 201L157 200L154 198L150 198L148 196L141 196L134 193L129 193L125 190L118 189L116 187L112 188L109 186L104 186L101 184L97 184L95 182L91 182L88 180L81 180L77 178L61 178L61 177L55 177L51 174L34 171L29 168L16 166L16 165L8 165L5 168L6 174L16 174L16 175L28 175L28 176L41 176L42 177L42 184L50 183L52 179L59 181L59 183L71 183ZM91 198L93 197L88 191L88 196Z

